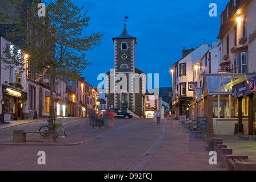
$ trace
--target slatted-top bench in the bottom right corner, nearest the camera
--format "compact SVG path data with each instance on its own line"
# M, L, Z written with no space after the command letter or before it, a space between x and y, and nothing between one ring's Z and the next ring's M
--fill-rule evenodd
M251 162L246 155L227 155L227 170L229 171L255 171L256 163Z

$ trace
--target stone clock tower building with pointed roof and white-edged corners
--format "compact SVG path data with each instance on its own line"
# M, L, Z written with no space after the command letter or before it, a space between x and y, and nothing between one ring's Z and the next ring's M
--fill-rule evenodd
M113 38L114 69L106 73L106 105L130 112L134 117L145 114L146 74L135 68L137 39L126 31Z

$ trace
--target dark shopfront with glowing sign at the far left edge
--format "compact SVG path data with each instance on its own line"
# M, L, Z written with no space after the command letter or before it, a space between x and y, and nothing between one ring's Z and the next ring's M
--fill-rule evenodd
M3 85L2 113L11 114L11 120L23 119L22 107L27 104L27 93L11 86Z

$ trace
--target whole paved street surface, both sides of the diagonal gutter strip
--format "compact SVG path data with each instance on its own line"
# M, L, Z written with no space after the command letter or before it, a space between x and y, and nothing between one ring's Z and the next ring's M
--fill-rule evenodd
M18 129L29 125L38 123ZM225 170L209 164L206 143L178 121L161 119L154 125L153 119L115 119L115 128L93 128L88 119L66 118L64 126L67 138L60 136L53 143L42 142L38 134L29 135L25 143L2 141L0 170ZM45 164L38 163L39 151L45 152Z

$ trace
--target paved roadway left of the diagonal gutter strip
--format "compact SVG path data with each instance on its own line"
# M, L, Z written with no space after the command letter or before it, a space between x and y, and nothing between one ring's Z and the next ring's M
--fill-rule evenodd
M74 126L72 126L73 124ZM67 126L62 146L1 146L1 170L127 170L141 159L158 138L162 125L148 120L115 119L115 128L93 129L89 122ZM30 124L27 124L30 125ZM25 127L25 125L24 125ZM74 136L72 136L74 135ZM71 145L70 140L74 139ZM27 144L33 139L27 139ZM63 141L62 141L63 142ZM42 142L38 142L43 144ZM58 143L58 139L57 139ZM63 142L64 143L64 142ZM38 151L46 154L46 164L39 165ZM4 164L4 165L3 165Z

